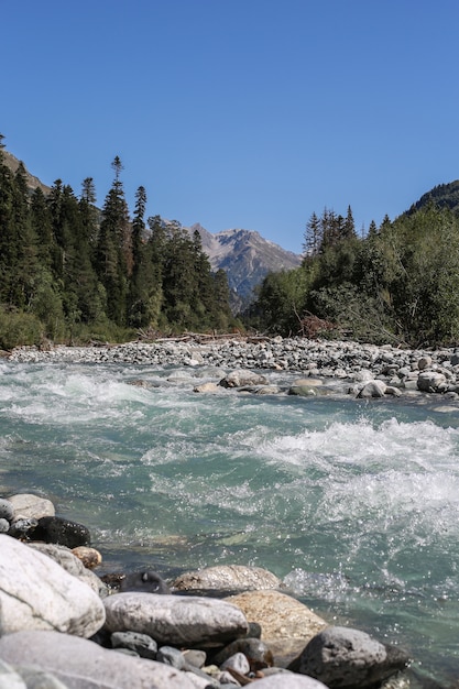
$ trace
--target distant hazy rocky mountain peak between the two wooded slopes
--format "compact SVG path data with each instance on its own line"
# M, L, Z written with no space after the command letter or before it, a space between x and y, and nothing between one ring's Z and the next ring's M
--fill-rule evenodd
M253 230L233 229L214 234L198 222L187 229L190 233L199 232L214 271L226 271L234 293L233 307L238 302L239 308L247 305L254 287L271 271L291 270L302 263L300 255L282 249Z

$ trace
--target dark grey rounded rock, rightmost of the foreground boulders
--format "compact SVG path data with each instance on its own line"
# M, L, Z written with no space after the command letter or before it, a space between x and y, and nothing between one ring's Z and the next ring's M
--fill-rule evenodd
M372 687L406 667L408 657L359 630L332 626L317 634L288 669L330 689Z

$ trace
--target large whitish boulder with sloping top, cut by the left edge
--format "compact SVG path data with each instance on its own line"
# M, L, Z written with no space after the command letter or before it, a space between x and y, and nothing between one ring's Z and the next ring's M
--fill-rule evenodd
M57 630L89 637L103 625L99 595L50 557L6 535L0 551L0 634Z

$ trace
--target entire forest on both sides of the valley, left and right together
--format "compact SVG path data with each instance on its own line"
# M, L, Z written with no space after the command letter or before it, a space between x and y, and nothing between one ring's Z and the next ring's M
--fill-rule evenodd
M130 215L122 163L103 206L94 179L77 197L57 179L31 192L6 164L0 135L0 349L86 344L185 331L339 338L409 347L459 341L459 183L440 185L380 227L357 233L352 210L306 223L302 265L273 272L236 318L223 270L198 232Z

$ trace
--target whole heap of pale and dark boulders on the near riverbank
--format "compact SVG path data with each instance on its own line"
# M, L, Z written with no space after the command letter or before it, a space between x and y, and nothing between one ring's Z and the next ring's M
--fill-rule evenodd
M0 499L0 528L1 687L409 686L403 649L329 625L264 569L99 577L88 528L31 494Z

